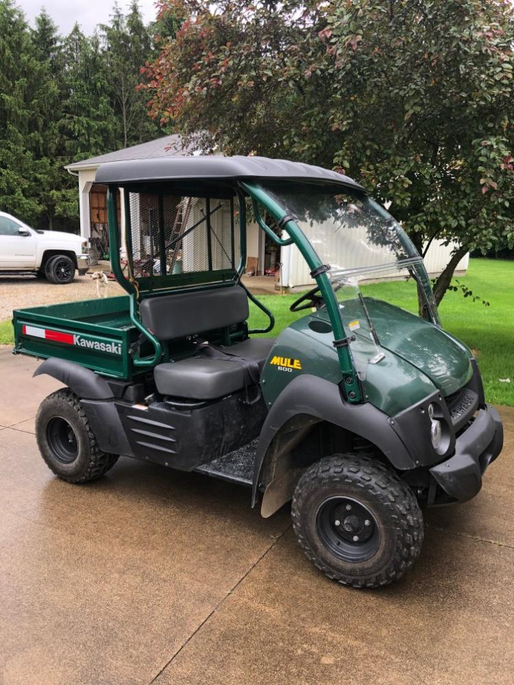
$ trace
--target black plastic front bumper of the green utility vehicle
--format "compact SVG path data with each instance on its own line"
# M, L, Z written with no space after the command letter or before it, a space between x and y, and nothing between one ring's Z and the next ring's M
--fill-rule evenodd
M454 456L430 469L437 485L430 488L428 504L438 506L472 499L482 487L482 475L487 466L498 457L502 447L502 419L498 411L487 404L476 414L472 425L456 439Z

